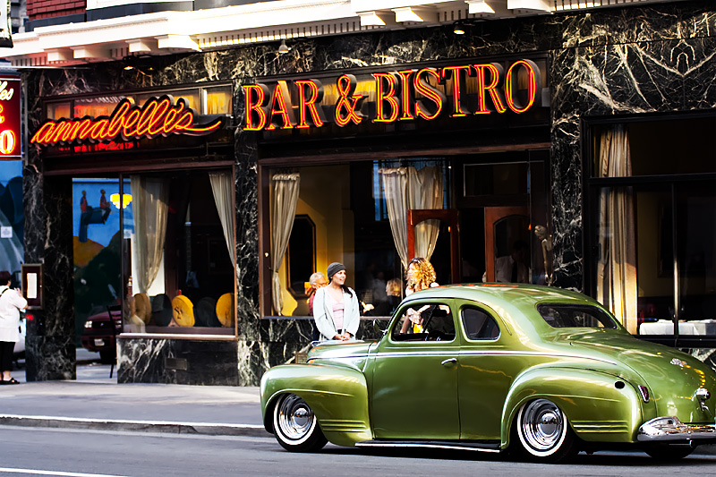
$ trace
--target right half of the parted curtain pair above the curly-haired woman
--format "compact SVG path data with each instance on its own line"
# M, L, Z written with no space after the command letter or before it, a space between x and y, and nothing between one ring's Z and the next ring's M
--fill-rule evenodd
M435 166L416 171L408 168L408 208L442 209L442 171ZM438 243L439 220L424 220L415 225L415 256L430 261Z

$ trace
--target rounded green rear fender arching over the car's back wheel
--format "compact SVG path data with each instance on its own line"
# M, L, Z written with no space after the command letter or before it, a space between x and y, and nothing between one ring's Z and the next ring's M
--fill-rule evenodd
M575 434L585 441L636 441L643 405L634 386L617 376L588 369L541 367L519 375L502 409L502 448L525 403L545 398L558 405Z

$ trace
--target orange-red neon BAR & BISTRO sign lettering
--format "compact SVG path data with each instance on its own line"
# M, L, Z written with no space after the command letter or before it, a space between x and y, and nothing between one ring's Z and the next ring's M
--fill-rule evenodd
M526 98L516 91L518 72L524 72ZM372 123L433 120L439 115L522 114L539 102L541 87L539 66L530 60L517 60L507 70L499 63L463 64L443 68L422 68L397 72L373 73L374 107L364 113L365 95L354 94L354 75L344 74L336 81L335 106L324 106L323 85L319 80L294 81L298 106L292 104L286 81L277 81L273 89L266 84L243 85L246 100L244 131L321 127L328 122L339 126ZM473 95L468 95L468 83ZM435 84L444 85L437 88ZM444 91L449 91L447 98ZM473 96L473 101L468 97ZM476 98L475 98L476 97ZM328 115L327 115L328 113ZM331 117L332 116L332 117Z

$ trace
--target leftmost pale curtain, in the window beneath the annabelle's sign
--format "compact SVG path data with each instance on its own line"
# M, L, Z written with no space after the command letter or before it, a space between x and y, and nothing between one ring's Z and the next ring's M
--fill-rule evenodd
M132 175L136 284L146 294L157 277L166 236L169 186L162 179Z

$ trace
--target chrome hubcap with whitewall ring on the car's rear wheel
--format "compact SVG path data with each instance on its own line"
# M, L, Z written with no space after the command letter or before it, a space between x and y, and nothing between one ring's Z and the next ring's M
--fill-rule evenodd
M526 443L538 451L558 445L565 432L564 415L547 399L537 399L527 405L520 420Z

